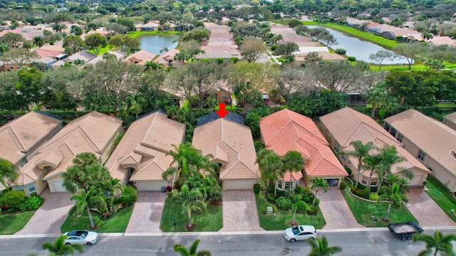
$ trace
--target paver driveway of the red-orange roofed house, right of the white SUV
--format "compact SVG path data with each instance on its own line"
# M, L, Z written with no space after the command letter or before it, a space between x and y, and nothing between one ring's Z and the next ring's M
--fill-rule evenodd
M317 198L320 199L318 206L320 206L321 213L326 220L323 229L364 228L351 213L340 189L328 188L326 193L320 189Z

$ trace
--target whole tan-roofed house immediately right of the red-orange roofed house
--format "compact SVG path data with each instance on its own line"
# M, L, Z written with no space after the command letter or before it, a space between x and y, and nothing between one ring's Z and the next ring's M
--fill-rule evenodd
M395 164L391 167L393 174L400 176L400 171L409 169L415 174L415 178L410 181L410 186L423 186L426 181L427 174L430 171L418 160L415 156L408 153L403 148L403 144L398 142L391 134L389 134L380 124L366 114L352 110L349 107L344 107L341 110L336 110L329 114L320 117L321 132L328 138L331 149L336 153L343 151L353 151L353 146L350 142L361 141L363 144L373 142L375 146L382 148L385 144L395 146L398 154L405 158L405 161ZM375 154L375 152L372 152ZM342 164L348 166L352 170L353 176L358 174L358 159L353 156L346 155L338 156ZM373 174L371 183L368 184L370 171L361 171L359 182L365 186L378 186L378 176Z

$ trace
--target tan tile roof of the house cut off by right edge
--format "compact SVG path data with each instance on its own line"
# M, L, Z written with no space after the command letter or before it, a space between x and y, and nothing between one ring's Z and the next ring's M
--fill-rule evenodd
M385 119L403 137L427 156L456 175L456 131L417 110L407 110Z

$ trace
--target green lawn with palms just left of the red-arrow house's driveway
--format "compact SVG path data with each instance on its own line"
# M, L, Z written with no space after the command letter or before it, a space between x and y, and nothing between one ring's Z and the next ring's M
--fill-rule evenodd
M176 228L172 225L174 222L177 223ZM163 232L185 232L187 231L187 223L187 211L182 206L182 203L166 198L160 229ZM206 213L192 213L192 223L195 223L195 229L192 230L195 232L218 231L223 227L222 206L207 204Z

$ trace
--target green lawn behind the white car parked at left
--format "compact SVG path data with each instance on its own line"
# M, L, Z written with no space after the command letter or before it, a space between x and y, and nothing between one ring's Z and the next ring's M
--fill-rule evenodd
M71 212L71 210L70 210ZM96 231L102 233L123 233L125 228L127 228L128 221L130 221L131 213L133 212L133 206L128 206L120 210L113 218L110 220L100 220L98 215L93 214L93 222L95 225L98 225ZM62 233L68 232L70 230L83 229L87 230L90 228L90 220L86 210L84 210L81 217L73 217L73 214L69 214L65 222L61 226Z

